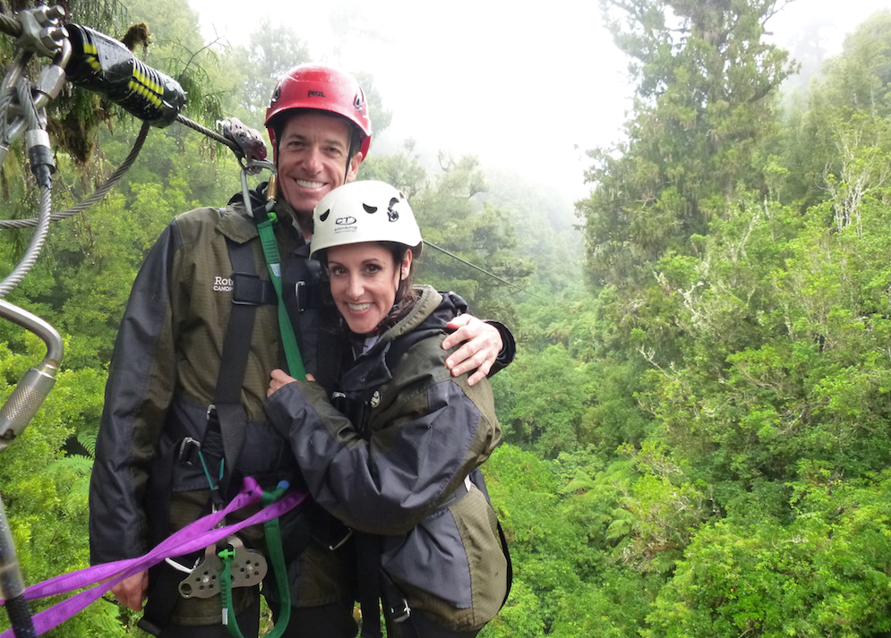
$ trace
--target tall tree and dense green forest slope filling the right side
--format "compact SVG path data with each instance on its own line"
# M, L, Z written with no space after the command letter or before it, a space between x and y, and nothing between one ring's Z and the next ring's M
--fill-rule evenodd
M602 531L595 556L653 579L637 635L884 635L891 20L781 123L784 55L759 43L775 3L718 4L604 3L639 81L578 204L607 285L578 317L527 315L525 354L544 372L549 340L593 342L569 363L598 448L563 451L562 493Z

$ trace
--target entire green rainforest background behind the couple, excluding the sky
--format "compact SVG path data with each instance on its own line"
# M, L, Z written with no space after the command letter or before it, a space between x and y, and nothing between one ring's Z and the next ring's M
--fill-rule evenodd
M891 635L891 12L817 64L767 42L779 4L601 0L635 98L621 141L588 151L574 207L472 156L425 160L411 139L360 170L406 192L426 239L525 289L424 251L421 281L518 339L484 466L514 585L486 638ZM261 128L278 74L313 59L270 23L249 46L205 47L176 0L67 6L116 37L147 22L138 55L209 124ZM7 64L12 46L0 38ZM351 71L382 132L373 69ZM51 115L58 209L120 165L139 123L67 89ZM0 459L27 583L87 565L90 455L141 259L176 214L238 189L227 149L155 130L8 295L66 345ZM0 191L4 218L33 217L21 154ZM0 234L4 276L29 241ZM44 353L0 323L0 394ZM100 600L49 635L125 634L133 617Z

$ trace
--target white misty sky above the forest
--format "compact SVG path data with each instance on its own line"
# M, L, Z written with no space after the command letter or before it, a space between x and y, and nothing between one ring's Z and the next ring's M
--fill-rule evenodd
M317 60L372 72L393 112L379 149L411 136L419 149L473 153L484 166L518 171L570 200L588 191L584 150L618 139L630 106L628 61L600 26L595 0L552 0L528 10L506 0L266 0L249 9L236 0L189 3L206 38L244 43L268 15L289 22ZM792 47L796 31L818 23L834 54L844 33L889 6L891 0L796 0L767 28Z

